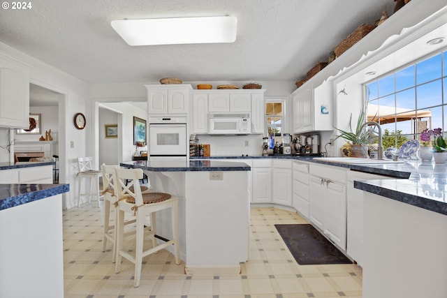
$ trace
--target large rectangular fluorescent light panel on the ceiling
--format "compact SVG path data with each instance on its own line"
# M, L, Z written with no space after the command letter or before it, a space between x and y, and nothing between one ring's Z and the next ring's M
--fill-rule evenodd
M111 25L129 45L234 43L237 18L224 16L114 20Z

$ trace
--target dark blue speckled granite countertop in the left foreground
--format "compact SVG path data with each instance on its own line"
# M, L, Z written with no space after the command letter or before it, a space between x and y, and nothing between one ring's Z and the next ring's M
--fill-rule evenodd
M69 184L0 184L0 210L68 193Z

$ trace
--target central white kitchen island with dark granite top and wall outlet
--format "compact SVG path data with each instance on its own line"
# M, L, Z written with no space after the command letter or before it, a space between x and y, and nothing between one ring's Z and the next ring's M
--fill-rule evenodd
M141 168L152 188L177 196L180 258L187 274L240 274L240 262L249 255L251 167L243 162L150 158L120 165ZM160 213L157 234L170 239L170 211Z

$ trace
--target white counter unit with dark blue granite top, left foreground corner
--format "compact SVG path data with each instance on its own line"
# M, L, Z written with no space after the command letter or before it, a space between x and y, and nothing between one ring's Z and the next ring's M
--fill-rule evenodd
M0 297L64 297L68 191L68 184L0 184Z

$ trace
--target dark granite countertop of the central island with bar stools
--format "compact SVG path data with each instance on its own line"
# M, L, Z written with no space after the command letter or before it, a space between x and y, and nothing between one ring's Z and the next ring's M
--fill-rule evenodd
M186 161L184 160L152 160L127 161L120 163L122 167L140 168L151 172L198 172L198 171L249 171L247 163L230 161Z

